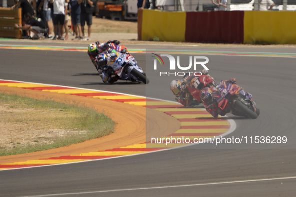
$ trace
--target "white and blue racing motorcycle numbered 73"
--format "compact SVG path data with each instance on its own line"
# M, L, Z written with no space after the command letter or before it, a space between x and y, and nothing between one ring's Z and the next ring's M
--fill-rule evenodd
M110 62L108 64L108 72L111 75L117 75L120 80L149 83L146 74L139 67L136 59L128 52L121 52L122 49L125 49L125 46L114 43L110 43L109 46L110 49L108 51L110 53L106 52L106 54L109 54L113 59L113 63Z

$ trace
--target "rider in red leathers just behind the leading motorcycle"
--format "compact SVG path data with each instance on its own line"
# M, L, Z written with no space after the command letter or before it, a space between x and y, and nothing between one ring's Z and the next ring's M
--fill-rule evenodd
M208 74L207 70L202 70L200 72L203 77L203 80L213 81L210 82L215 86L214 79ZM184 105L185 107L193 107L199 105L201 102L199 93L200 90L197 89L197 86L200 83L205 83L207 81L199 81L200 77L195 76L194 74L185 76L182 80L173 80L170 84L170 89L174 94L174 98L177 102Z

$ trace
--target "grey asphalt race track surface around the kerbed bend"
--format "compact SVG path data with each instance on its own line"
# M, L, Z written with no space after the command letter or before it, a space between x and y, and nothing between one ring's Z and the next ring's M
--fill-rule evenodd
M294 47L182 47L296 54ZM145 54L133 55L145 69ZM237 78L260 108L256 120L228 117L237 125L226 137L247 137L248 143L197 144L115 159L3 170L0 196L295 196L295 57L204 56L216 81ZM146 95L144 84L103 84L84 52L0 49L0 59L0 79L4 80ZM158 79L156 72L147 76L150 81ZM156 88L155 95L173 100L162 88ZM251 143L250 137L256 136L286 136L287 143Z

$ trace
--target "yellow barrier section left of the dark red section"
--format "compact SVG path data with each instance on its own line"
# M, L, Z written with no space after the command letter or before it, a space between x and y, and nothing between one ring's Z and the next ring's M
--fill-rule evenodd
M143 10L142 40L185 41L186 12Z

